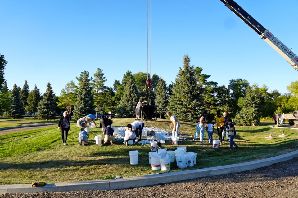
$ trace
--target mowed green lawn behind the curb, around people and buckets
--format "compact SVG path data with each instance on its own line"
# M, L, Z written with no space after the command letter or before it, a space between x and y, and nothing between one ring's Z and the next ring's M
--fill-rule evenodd
M133 118L113 119L113 126L126 126L134 121ZM99 122L97 121L98 125ZM158 119L144 121L145 127L169 129L170 121ZM284 129L289 137L279 138L280 129L270 128L272 125L254 127L236 126L237 138L235 142L239 148L229 150L229 143L219 149L213 149L208 144L205 132L205 144L192 142L196 131L196 123L181 122L180 134L189 139L179 141L180 146L186 146L188 152L196 152L197 160L194 167L179 169L172 163L171 171L200 169L206 167L229 165L246 161L254 161L268 157L289 153L298 148L297 130ZM114 179L116 176L133 177L159 173L153 171L148 164L149 145L126 147L121 141L113 146L101 147L96 145L94 136L102 135L101 128L91 130L89 144L78 146L79 128L71 124L68 135L68 146L61 142L60 131L57 127L36 129L10 133L0 136L0 184L25 184L34 181L46 183L84 181L97 179ZM274 132L276 140L266 140L265 137ZM218 139L214 131L214 139ZM178 146L179 146L178 145ZM175 150L177 146L166 144L168 150ZM138 165L129 164L129 151L138 150Z

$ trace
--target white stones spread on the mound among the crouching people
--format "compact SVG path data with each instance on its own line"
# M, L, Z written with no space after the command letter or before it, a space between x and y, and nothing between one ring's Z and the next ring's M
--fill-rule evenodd
M155 133L160 133L162 136L164 136L167 141L172 142L172 130L163 130L163 129L159 129L156 127L144 127L146 129L148 129L148 136L147 137L143 137L141 138L141 141L139 142L139 144L142 145L149 145L151 141L153 141L153 136L151 136L149 133L150 131L154 131ZM114 136L116 140L123 140L124 136L125 136L125 131L126 131L126 127L118 127L118 132L117 135ZM181 135L179 134L179 141L181 140L185 140L188 139L187 135ZM137 136L137 140L138 140L138 136Z

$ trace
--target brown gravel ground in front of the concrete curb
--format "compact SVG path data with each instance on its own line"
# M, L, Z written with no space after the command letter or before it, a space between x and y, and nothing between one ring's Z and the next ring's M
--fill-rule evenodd
M297 197L298 157L240 173L204 177L169 184L111 191L43 192L3 194L7 197Z

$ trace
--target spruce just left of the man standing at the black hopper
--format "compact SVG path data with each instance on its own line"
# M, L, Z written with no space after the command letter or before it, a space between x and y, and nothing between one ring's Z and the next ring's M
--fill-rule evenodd
M120 105L117 106L116 112L125 117L132 118L135 116L135 106L138 101L137 87L131 79L126 82Z

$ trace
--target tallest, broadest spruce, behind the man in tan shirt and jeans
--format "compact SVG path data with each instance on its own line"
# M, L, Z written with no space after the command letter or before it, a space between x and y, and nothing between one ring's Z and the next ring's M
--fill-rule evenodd
M188 55L183 57L183 69L180 67L169 97L168 109L181 121L197 122L203 104L202 85L199 84L194 66L190 66Z

